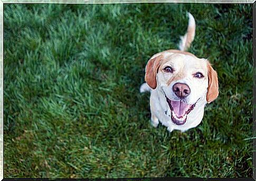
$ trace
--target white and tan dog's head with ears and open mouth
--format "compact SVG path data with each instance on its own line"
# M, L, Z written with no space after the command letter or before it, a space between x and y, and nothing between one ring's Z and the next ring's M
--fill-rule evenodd
M196 121L196 110L219 95L217 73L210 62L178 50L151 57L146 65L145 81L165 96L175 125Z

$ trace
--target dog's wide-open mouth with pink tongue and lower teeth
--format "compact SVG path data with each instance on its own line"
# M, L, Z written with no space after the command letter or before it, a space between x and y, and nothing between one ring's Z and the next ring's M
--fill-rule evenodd
M170 107L170 110L172 112L171 118L172 122L176 125L184 125L187 120L187 115L191 112L191 110L194 109L195 104L186 104L183 103L181 100L174 101L168 99L166 97L166 101Z

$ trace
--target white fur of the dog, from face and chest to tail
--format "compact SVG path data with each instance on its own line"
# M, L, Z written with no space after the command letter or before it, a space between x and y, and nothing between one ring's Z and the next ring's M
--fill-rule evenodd
M187 33L181 37L181 43L179 44L179 49L184 51L187 47L185 46L186 41L190 43L194 39L195 35L195 19L188 13L188 29L190 28L190 38L187 39ZM192 31L191 31L192 28ZM207 65L205 59L197 58L193 54L189 54L182 51L169 50L157 53L153 55L150 59L155 58L159 55L163 55L163 63L161 63L159 71L156 75L157 87L152 89L147 83L140 86L140 93L149 91L150 92L150 112L151 112L151 125L157 127L159 122L167 127L169 132L173 130L181 130L185 132L186 130L196 127L201 123L204 115L204 106L207 103L206 94L208 86L207 78ZM171 66L175 69L175 73L166 73L163 71L163 67ZM195 72L202 72L205 77L202 79L195 78L193 75ZM181 78L179 78L182 75ZM175 79L176 78L176 79ZM168 80L176 80L168 83ZM166 101L167 96L170 100L180 100L173 92L173 85L175 83L184 83L189 86L191 93L184 98L186 104L195 104L194 109L187 114L187 120L183 125L176 125L172 122L171 110Z

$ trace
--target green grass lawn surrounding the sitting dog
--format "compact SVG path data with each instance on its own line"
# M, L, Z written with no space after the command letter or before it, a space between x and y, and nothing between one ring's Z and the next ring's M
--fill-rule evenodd
M139 86L187 11L220 95L169 133ZM252 62L252 4L4 4L4 177L252 177Z

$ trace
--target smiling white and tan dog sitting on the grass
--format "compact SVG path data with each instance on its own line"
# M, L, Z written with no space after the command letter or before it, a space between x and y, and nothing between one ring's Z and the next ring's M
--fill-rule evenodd
M185 132L201 123L204 106L219 95L217 73L210 62L185 52L194 40L195 19L188 13L187 33L179 50L153 55L147 65L140 92L150 91L151 124L159 121L169 132Z

